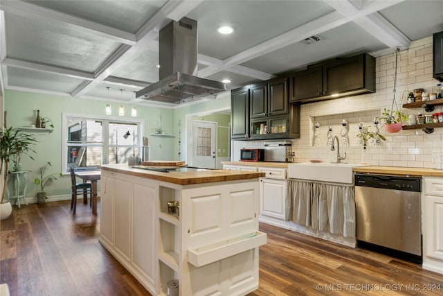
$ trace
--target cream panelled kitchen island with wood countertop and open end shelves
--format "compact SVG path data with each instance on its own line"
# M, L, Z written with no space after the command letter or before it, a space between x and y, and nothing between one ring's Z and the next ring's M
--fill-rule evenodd
M264 173L101 168L100 243L150 293L246 295L258 288Z

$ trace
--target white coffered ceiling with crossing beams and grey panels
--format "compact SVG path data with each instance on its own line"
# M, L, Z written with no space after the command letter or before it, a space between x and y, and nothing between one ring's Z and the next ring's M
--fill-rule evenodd
M177 104L135 92L159 80L159 30L182 17L197 21L198 76L229 78L228 89L443 31L441 0L1 0L0 10L6 89L164 107Z

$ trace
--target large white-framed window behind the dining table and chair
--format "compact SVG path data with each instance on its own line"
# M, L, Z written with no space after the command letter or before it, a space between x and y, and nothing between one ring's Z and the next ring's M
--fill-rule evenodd
M138 156L143 120L63 114L62 170L123 164Z

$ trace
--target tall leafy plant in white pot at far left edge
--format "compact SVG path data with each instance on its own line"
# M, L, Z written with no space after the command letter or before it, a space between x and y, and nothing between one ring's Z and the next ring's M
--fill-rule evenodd
M10 160L16 159L18 162L21 155L26 154L31 159L28 153L35 153L35 150L31 148L33 144L37 142L37 139L31 134L24 134L20 130L15 130L12 127L3 128L0 130L0 171L3 171L3 190L1 191L0 213L1 220L6 219L12 212L10 202L6 202L6 186L8 185L8 168Z

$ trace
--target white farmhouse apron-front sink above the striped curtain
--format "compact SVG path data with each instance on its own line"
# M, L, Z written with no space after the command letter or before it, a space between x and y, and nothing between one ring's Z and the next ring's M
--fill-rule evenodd
M288 165L288 177L334 183L354 183L352 168L364 164L331 164L328 162L303 162Z

